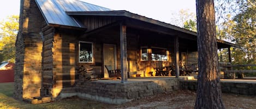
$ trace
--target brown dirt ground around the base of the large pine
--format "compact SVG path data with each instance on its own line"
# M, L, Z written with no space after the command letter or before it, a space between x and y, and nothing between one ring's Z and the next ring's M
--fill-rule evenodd
M194 108L196 96L192 91L176 91L133 100L122 105L107 105L106 108ZM225 107L230 109L256 108L256 97L223 93L223 101Z

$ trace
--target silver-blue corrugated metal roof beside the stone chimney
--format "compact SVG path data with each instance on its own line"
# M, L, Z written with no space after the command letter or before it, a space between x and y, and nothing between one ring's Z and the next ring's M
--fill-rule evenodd
M66 11L110 11L111 9L99 7L78 0L35 0L48 24L66 25L70 27L85 28L79 24Z

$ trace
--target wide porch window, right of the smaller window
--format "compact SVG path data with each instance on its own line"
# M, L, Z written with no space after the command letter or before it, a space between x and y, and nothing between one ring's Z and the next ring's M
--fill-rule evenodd
M167 51L163 48L151 48L152 61L167 61Z

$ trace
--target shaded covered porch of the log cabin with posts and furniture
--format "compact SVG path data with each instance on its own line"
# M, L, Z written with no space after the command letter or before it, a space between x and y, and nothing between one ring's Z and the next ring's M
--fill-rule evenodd
M81 44L92 43L92 59L81 61L78 65L98 69L100 78L109 77L106 65L121 70L122 83L127 82L131 74L157 76L158 69L170 66L173 67L169 70L170 75L178 78L182 68L197 66L197 34L193 31L128 11L73 11L67 14L79 19L84 25L94 25L78 37L79 52ZM234 46L221 40L217 42L218 48Z

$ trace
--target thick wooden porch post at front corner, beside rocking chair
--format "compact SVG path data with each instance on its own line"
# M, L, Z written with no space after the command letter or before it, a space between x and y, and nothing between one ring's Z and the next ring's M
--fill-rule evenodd
M120 24L120 51L121 51L121 82L127 82L127 43L126 43L126 25Z

